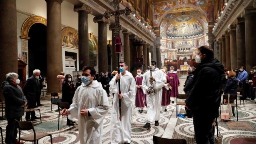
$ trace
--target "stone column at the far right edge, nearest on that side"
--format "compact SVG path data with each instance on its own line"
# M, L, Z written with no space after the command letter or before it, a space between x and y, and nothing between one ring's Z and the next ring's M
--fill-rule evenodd
M250 69L256 65L256 8L245 10L244 25L246 70L250 72Z

